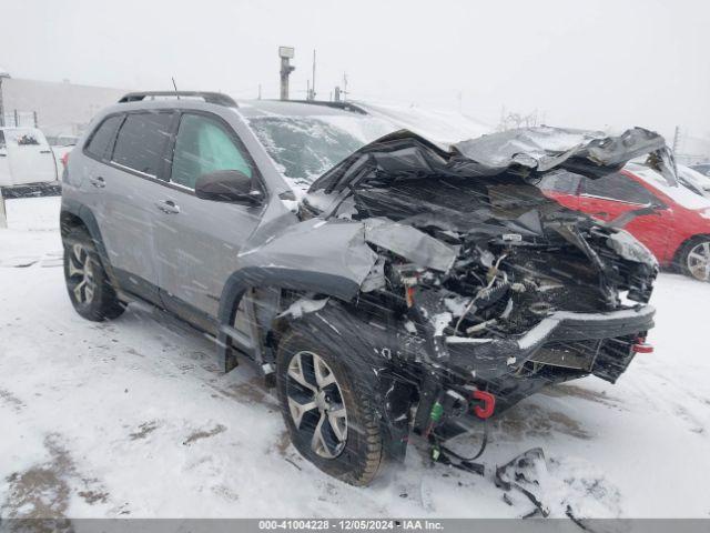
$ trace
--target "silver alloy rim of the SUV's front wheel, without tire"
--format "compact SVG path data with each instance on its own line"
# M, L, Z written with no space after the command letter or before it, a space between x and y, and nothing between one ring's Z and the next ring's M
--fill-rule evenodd
M347 440L347 413L341 385L320 355L304 351L291 359L286 399L293 423L310 440L311 450L336 457Z

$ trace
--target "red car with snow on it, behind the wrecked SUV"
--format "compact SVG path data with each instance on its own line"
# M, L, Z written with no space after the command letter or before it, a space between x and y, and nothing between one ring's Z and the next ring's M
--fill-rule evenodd
M539 187L562 205L626 229L661 266L710 281L710 200L640 164L598 180L558 172Z

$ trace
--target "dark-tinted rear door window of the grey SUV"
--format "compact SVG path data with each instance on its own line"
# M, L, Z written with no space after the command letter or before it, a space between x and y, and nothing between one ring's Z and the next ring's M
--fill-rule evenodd
M115 163L156 177L168 139L172 113L130 113L119 130L113 149Z

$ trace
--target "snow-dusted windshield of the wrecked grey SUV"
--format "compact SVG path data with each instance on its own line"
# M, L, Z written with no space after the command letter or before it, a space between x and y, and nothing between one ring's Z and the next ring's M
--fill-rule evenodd
M281 173L307 189L316 178L365 144L398 128L361 115L258 117L250 119Z

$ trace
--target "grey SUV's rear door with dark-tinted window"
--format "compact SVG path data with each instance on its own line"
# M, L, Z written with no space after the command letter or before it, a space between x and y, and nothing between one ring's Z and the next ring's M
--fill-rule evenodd
M153 302L160 301L153 227L174 117L164 110L124 114L110 160L95 165L90 178L100 195L99 228L121 286Z

